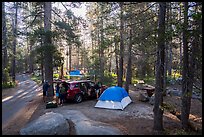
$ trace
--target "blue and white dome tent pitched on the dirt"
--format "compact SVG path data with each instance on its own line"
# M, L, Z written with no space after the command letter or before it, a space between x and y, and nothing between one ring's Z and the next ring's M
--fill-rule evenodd
M101 94L95 107L123 110L131 102L132 100L124 88L112 86Z

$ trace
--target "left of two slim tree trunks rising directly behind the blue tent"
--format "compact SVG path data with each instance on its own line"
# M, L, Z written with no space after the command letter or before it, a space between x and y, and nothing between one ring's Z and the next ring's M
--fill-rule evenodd
M120 60L119 60L119 72L118 72L118 86L123 87L123 56L124 56L124 19L123 19L123 2L120 2Z

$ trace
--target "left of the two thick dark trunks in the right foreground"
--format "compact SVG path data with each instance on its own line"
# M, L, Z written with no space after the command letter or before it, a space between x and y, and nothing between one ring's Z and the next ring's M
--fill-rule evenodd
M163 86L164 86L164 60L165 60L165 13L166 3L159 3L159 29L158 29L158 48L156 64L156 87L154 102L154 131L163 131Z

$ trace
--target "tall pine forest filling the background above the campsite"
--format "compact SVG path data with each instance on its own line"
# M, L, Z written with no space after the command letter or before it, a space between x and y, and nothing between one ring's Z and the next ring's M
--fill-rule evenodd
M104 84L115 73L114 84L127 91L133 78L155 77L153 128L163 131L162 94L168 78L182 72L181 124L188 129L192 92L202 91L202 2L85 3L88 24L69 9L81 3L57 3L64 12L54 4L2 2L4 84L9 74L15 82L16 73L35 69L52 82L53 68L61 67L62 78L65 63Z

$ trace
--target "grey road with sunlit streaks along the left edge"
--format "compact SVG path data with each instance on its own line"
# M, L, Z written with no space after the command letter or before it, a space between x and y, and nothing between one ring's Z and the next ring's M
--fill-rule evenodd
M39 96L42 87L30 79L27 74L16 76L18 86L2 91L2 130L8 123L20 116L26 106Z

